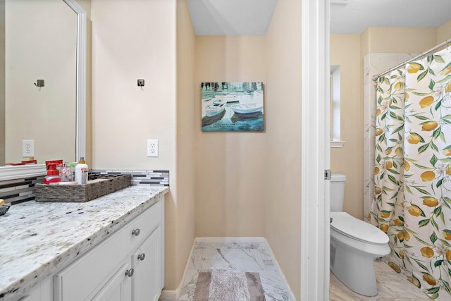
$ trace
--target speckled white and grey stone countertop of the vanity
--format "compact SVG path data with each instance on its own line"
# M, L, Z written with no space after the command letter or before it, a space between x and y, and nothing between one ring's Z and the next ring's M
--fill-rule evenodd
M169 191L132 186L85 203L25 202L0 216L0 300L14 300Z

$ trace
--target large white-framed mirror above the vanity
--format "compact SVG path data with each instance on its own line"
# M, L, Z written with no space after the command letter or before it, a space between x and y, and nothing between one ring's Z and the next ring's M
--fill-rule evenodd
M4 1L4 4L8 1L11 0L6 0ZM63 50L64 54L67 54L67 56L69 56L69 52L73 52L73 57L75 58L75 60L70 60L68 62L68 65L65 69L63 69L63 74L62 75L53 75L54 76L54 80L49 80L48 85L49 85L49 90L51 90L51 85L54 84L54 87L56 88L60 88L60 92L58 94L48 94L47 98L45 97L45 88L46 88L46 84L47 82L44 81L44 87L37 87L38 85L35 85L36 87L32 87L32 89L35 89L33 94L33 97L30 97L30 95L21 95L21 94L16 94L14 95L13 100L17 99L26 99L26 98L30 98L32 101L40 101L40 100L44 100L45 102L48 102L45 105L42 105L40 109L34 109L33 113L35 114L35 116L32 116L32 118L22 118L23 116L16 116L16 114L14 114L14 116L9 116L8 114L8 110L7 106L9 104L6 104L6 102L8 102L8 93L5 94L5 98L4 98L4 110L0 110L0 114L3 113L4 115L4 120L8 120L8 118L10 118L11 123L8 124L8 121L6 121L6 128L11 128L14 127L14 124L12 122L16 122L16 123L24 123L27 124L27 126L30 128L32 127L38 127L39 125L32 123L32 120L35 120L36 116L39 116L40 113L43 113L44 111L49 111L49 106L53 107L51 104L51 101L54 101L55 98L58 98L58 95L62 95L61 93L61 89L65 89L65 90L73 90L71 91L73 94L73 96L70 97L66 97L68 99L64 99L64 97L61 97L61 99L56 99L57 101L60 100L61 102L63 101L68 101L68 102L72 102L72 104L69 104L69 106L72 106L70 109L68 109L68 111L73 111L72 113L68 113L68 118L70 118L70 120L67 121L67 125L70 125L70 128L68 130L68 132L70 132L70 134L67 134L68 136L70 135L70 141L66 142L66 145L71 145L70 149L72 149L70 151L70 153L67 156L62 156L62 157L53 157L51 159L64 159L64 160L68 160L68 161L76 161L78 158L80 158L80 156L85 156L85 152L86 152L86 142L85 142L85 136L86 136L86 13L85 11L82 9L82 7L77 3L77 1L75 0L55 0L56 2L58 2L58 6L60 6L60 8L58 9L64 9L66 11L70 11L70 16L68 18L65 19L70 19L70 21L73 23L72 25L70 25L70 28L72 28L73 30L70 30L70 32L72 32L72 35L75 35L75 37L73 37L70 33L70 39L72 42L70 47L72 47L69 50ZM25 1L27 2L27 4L30 4L32 2L36 2L36 1ZM66 8L61 8L61 5L59 3L64 4L64 6L66 6ZM17 6L18 1L11 1L11 3L13 3L14 5L11 6L11 8L13 6ZM47 1L46 4L49 4L49 1ZM41 4L38 4L39 6ZM5 6L4 6L5 7ZM68 9L67 9L68 8ZM52 8L53 9L53 8ZM6 13L8 13L8 9L5 10ZM64 13L68 13L68 12L64 12ZM72 16L73 13L73 16ZM55 16L55 15L51 15L51 16ZM30 18L32 18L33 16L30 16ZM45 18L42 16L35 16L36 18L33 19L33 22L37 23L49 23L50 22L50 18ZM8 16L6 15L4 20L6 19L6 22L4 24L6 24L6 26L8 26L8 24L11 26L11 30L15 30L14 27L12 27L13 23L11 23L11 19L8 19ZM45 26L42 26L42 28L45 28ZM41 28L41 27L39 27ZM39 31L39 28L36 28L36 30L31 30L32 35L30 35L30 37L32 37L33 39L35 39L35 44L36 45L42 45L44 44L44 46L46 47L42 47L44 48L44 52L42 52L41 54L39 54L39 51L35 51L32 54L35 55L28 55L25 59L23 56L22 58L20 56L18 56L18 60L22 59L25 63L29 63L28 65L32 65L33 61L36 61L37 63L39 62L39 59L42 59L42 61L44 61L44 56L45 54L47 54L47 52L51 52L53 50L51 44L46 44L46 43L50 43L51 41L49 41L49 39L46 39L46 32L42 32ZM61 28L58 28L58 30L61 30ZM49 30L51 31L51 30ZM6 38L8 37L8 33L6 33ZM15 38L16 36L13 36L13 38ZM6 39L5 39L6 40ZM16 41L17 42L17 41ZM19 41L20 42L20 41ZM20 44L20 43L17 43ZM22 43L24 44L24 43ZM14 56L14 54L16 54L16 52L18 52L20 54L20 51L9 51L8 54L8 46L5 43L5 49L6 49L6 57L8 59L11 59L11 57ZM30 45L28 45L28 47L30 47ZM31 47L32 48L32 45ZM14 49L16 50L16 49ZM35 50L35 49L32 49ZM30 51L29 51L30 52ZM64 55L63 54L63 55ZM9 55L9 56L8 56ZM56 54L55 54L56 55ZM48 56L48 55L47 55ZM32 60L32 61L27 61L27 60ZM4 65L6 65L5 67L8 68L8 63L4 63ZM46 66L46 65L43 65ZM8 72L10 72L11 70L16 71L16 67L11 67L9 66L9 69L6 69ZM45 69L45 68L42 68ZM13 73L13 72L11 72ZM66 73L70 73L70 74L66 74ZM8 73L5 72L4 73L6 75L6 80L5 82L7 82L7 76ZM20 73L19 73L20 75ZM33 74L35 75L35 73ZM36 75L35 77L37 77L38 75ZM51 76L51 74L49 73L48 76ZM61 80L61 78L64 78L66 81L68 81L68 86L66 86L66 88L63 88L62 86L66 85L66 82L58 82L58 80ZM37 82L39 78L35 78L35 83ZM45 80L45 79L44 79ZM18 80L16 80L16 82L18 82ZM23 86L25 85L32 85L33 82L23 82ZM75 84L75 85L74 85ZM5 85L6 90L8 89L7 84ZM24 89L22 89L24 90ZM18 91L20 93L22 93L23 91L20 90L20 87L18 87ZM42 93L41 93L42 92ZM39 94L41 93L41 94ZM56 95L56 96L55 96ZM20 98L21 97L21 98ZM42 99L39 99L39 97L42 97ZM75 99L75 101L72 101L70 99ZM30 104L30 106L35 105L35 104ZM42 109L42 107L46 107L47 109ZM56 106L59 106L58 103L56 103ZM22 108L24 108L24 105L22 105ZM39 108L39 107L38 107ZM62 108L62 107L61 107ZM64 114L66 113L66 109L61 109L59 107L55 108L55 112L54 114ZM18 108L20 109L20 107ZM16 111L17 112L17 111ZM20 112L20 111L19 111ZM72 117L69 117L72 116ZM48 117L46 117L48 118ZM52 118L50 117L50 120ZM58 119L57 119L58 120ZM61 119L60 119L61 120ZM32 123L32 124L30 124ZM59 123L61 123L61 121L59 121ZM12 124L12 125L11 125ZM66 123L65 123L66 124ZM51 125L51 126L50 126ZM54 128L53 128L54 127ZM60 128L63 128L62 126ZM66 127L67 128L67 127ZM1 127L0 127L1 129ZM66 133L62 133L62 132L58 132L58 122L54 123L53 125L51 123L47 123L46 125L41 125L41 128L39 128L39 130L41 130L43 133L45 133L46 135L48 135L49 137L51 137L51 140L54 140L56 143L63 141L62 138L64 138L64 135L66 135ZM12 140L8 140L8 134L6 134L6 129L4 129L5 135L1 136L0 135L0 142L1 140L3 140L4 142L4 149L5 151L7 150L7 146L11 144L10 142ZM16 137L16 140L20 140L20 144L22 142L23 139L34 139L33 137L25 137L24 135L26 134L21 134L23 137ZM11 137L10 137L11 138ZM51 141L50 140L50 141ZM73 141L75 140L75 141ZM18 142L16 141L16 144ZM39 141L35 142L35 143L39 143ZM43 144L47 146L47 144L49 144L50 142L44 142ZM63 142L64 143L64 142ZM0 147L1 147L1 143L0 143ZM22 150L21 145L17 146L14 150L14 152L17 152L17 149L19 148L19 152ZM51 147L51 146L50 146ZM1 154L1 152L0 152ZM20 155L22 155L22 152L20 152ZM42 156L42 158L39 158L39 155L37 155L37 159L39 160L39 162L48 160L49 158ZM17 154L16 154L17 156ZM11 156L10 156L11 157ZM5 155L6 158L6 163L8 163L8 156ZM43 159L45 158L45 159ZM23 158L23 160L26 160L26 158ZM17 161L17 160L16 160ZM3 164L2 164L3 165ZM32 164L32 165L20 165L20 166L1 166L0 167L0 180L10 180L13 178L23 178L23 177L28 177L28 176L39 176L42 174L45 174L46 168L44 166L44 164Z

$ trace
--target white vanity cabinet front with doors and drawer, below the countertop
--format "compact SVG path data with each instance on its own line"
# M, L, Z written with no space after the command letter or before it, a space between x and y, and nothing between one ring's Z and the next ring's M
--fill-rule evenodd
M163 288L164 202L125 224L53 277L54 301L158 300Z

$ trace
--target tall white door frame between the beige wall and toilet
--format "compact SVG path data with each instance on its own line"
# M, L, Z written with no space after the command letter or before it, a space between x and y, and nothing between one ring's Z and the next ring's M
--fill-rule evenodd
M302 0L301 300L329 300L330 0Z

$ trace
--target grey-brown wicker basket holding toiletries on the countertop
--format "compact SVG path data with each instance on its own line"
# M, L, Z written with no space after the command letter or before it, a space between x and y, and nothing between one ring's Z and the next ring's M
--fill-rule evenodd
M36 184L36 202L87 202L130 185L130 175L92 175L86 185Z

